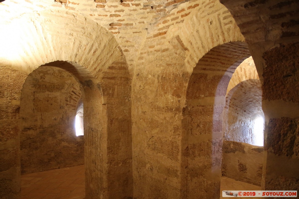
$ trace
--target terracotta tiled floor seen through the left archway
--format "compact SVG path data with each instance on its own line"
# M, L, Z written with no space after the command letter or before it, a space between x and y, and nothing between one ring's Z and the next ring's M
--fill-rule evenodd
M21 176L21 199L85 198L84 165Z

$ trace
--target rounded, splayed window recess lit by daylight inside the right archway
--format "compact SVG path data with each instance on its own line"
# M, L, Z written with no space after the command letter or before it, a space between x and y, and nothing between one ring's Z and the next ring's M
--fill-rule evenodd
M224 139L253 145L263 143L263 140L259 140L263 139L263 135L257 135L254 132L254 122L259 117L264 118L260 80L242 81L226 96L225 120L223 121Z

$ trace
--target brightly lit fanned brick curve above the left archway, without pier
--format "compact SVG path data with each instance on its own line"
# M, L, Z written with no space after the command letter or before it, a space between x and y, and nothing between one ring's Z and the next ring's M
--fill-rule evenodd
M18 26L17 32L14 26ZM112 33L77 13L44 10L24 14L13 19L6 29L8 33L13 32L13 37L7 37L5 44L15 44L13 47L4 44L12 49L8 53L14 54L7 56L6 62L27 73L57 60L77 63L83 66L82 74L86 69L96 78L113 62L122 61L127 68Z

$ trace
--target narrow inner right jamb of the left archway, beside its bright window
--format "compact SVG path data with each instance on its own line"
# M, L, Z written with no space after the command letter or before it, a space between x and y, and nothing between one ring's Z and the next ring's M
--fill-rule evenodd
M82 82L86 199L107 198L107 135L103 129L102 95L97 83Z

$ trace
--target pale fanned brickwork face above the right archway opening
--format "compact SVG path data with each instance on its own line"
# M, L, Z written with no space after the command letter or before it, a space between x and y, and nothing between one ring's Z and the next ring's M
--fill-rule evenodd
M184 50L184 63L192 73L198 61L213 47L234 41L245 42L229 10L219 1L202 1L196 12L178 25L175 38ZM211 7L210 9L205 9Z

